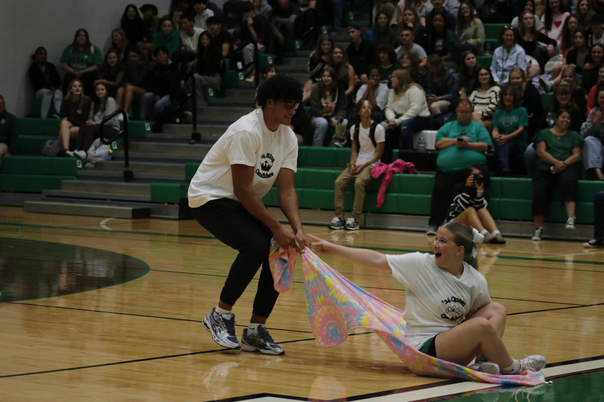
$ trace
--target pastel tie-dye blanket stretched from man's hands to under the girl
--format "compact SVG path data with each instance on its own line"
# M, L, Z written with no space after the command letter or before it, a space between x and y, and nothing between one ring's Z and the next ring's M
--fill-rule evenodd
M278 248L274 240L271 243L269 264L278 292L286 292L291 287L296 254L292 249ZM323 347L340 344L355 328L368 328L375 331L400 360L419 375L505 385L539 385L545 382L541 371L490 375L423 354L405 343L402 311L356 286L309 249L302 254L302 261L310 327L316 341Z

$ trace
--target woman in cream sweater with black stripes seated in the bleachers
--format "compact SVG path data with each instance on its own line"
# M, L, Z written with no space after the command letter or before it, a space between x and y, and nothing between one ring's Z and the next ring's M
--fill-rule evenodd
M489 69L486 67L480 68L478 70L478 83L468 99L474 105L472 119L482 124L487 131L490 131L493 126L492 118L499 103L500 90L500 87L495 84Z

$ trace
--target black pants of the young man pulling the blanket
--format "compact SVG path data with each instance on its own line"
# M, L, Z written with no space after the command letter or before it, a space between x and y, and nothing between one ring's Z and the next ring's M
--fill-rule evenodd
M268 318L279 295L268 265L271 230L239 201L230 198L214 199L201 207L191 208L191 211L199 224L216 239L239 251L220 292L220 300L234 305L262 265L252 312Z

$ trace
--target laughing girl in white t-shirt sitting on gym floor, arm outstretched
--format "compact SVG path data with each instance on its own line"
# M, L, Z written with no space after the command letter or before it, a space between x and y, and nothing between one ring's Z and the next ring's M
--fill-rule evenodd
M545 357L513 359L503 343L506 308L493 303L478 272L477 247L483 236L461 222L439 228L432 251L386 256L373 250L335 245L310 236L318 253L390 272L405 285L406 344L422 353L488 374L539 371Z

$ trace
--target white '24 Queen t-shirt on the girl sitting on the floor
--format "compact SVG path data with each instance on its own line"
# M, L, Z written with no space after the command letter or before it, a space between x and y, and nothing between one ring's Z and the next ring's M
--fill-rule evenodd
M486 279L465 262L457 278L439 268L432 254L386 257L394 278L405 285L405 342L416 349L491 301Z

